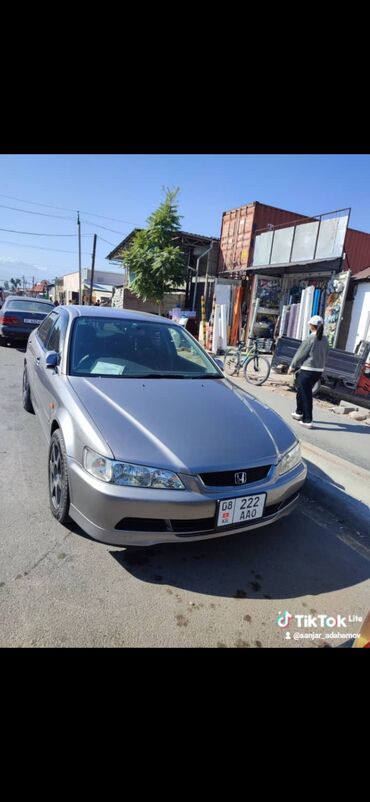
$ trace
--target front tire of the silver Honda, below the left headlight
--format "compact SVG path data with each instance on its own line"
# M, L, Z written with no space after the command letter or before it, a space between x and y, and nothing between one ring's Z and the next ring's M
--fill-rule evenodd
M48 485L50 509L54 518L67 524L69 517L69 484L67 452L60 429L53 432L48 455Z

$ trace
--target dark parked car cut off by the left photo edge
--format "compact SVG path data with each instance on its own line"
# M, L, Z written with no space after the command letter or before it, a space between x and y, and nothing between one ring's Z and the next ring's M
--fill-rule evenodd
M26 343L51 309L53 304L42 298L8 295L0 310L0 345Z

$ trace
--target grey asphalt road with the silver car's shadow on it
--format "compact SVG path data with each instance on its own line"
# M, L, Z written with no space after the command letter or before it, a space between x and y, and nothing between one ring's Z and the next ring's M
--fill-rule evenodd
M277 626L278 613L364 616L370 543L307 499L265 530L127 552L51 516L47 448L23 411L23 354L0 348L0 646L324 645Z

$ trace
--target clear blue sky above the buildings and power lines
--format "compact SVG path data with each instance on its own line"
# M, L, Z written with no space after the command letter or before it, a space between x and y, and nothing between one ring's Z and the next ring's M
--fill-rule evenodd
M164 186L180 187L182 227L198 234L219 236L222 212L254 200L308 215L350 206L350 226L370 232L370 155L3 154L0 178L0 228L30 232L0 231L0 283L11 271L16 277L35 269L38 279L51 279L78 269L75 214L68 210L81 210L82 266L91 264L96 233L96 267L109 269L105 256L145 225Z

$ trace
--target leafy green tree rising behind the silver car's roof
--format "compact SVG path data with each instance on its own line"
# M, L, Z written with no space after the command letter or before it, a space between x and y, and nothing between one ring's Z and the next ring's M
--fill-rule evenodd
M178 191L167 189L164 201L148 217L148 227L136 232L123 257L132 292L159 305L165 292L186 280L185 257L174 244L180 230Z

